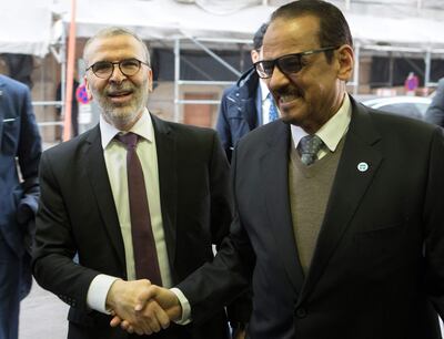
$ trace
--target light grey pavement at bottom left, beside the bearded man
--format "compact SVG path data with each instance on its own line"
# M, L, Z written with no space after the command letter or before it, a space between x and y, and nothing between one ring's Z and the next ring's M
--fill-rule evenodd
M19 339L67 338L69 306L36 281L20 308Z

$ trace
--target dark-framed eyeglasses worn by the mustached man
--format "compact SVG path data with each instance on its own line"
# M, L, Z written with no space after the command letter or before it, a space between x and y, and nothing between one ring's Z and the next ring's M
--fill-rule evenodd
M273 70L275 65L282 73L291 75L297 73L304 66L304 64L302 63L302 56L332 51L337 48L339 47L327 47L319 50L311 50L301 53L282 55L274 60L261 60L254 63L254 68L259 76L262 79L271 78L273 75Z

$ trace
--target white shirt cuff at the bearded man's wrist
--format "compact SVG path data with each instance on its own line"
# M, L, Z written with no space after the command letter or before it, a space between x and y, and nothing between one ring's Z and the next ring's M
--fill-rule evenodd
M111 310L107 309L107 296L111 285L120 278L98 275L92 279L87 294L87 305L89 308L102 314L110 315Z

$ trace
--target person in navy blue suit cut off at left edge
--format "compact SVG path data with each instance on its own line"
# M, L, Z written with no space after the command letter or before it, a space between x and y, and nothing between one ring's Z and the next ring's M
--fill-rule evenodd
M39 194L40 155L41 138L30 91L0 74L1 339L18 338L20 300L31 288L29 250Z

